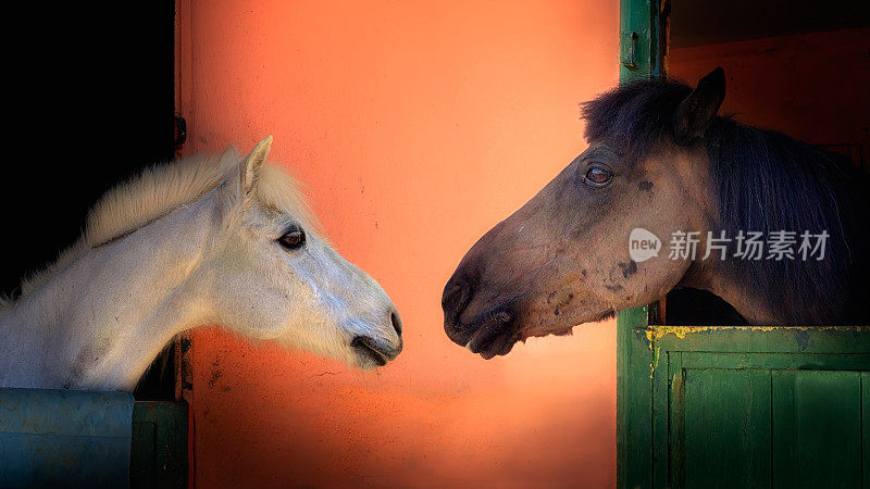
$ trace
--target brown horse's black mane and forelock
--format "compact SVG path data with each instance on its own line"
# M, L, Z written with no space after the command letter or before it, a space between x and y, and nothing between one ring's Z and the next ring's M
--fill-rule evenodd
M674 113L691 91L671 80L609 91L583 105L586 139L607 141L634 161L673 145ZM729 237L739 230L830 235L824 260L732 258L733 278L779 308L788 324L868 323L870 176L843 156L731 116L717 116L698 143L707 150Z

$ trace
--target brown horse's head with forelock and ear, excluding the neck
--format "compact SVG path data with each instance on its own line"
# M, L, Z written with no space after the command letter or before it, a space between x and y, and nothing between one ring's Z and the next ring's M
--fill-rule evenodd
M717 68L695 90L650 82L587 103L586 151L484 235L447 283L447 336L489 359L517 341L569 334L673 288L691 260L668 260L666 250L635 261L629 238L646 229L661 239L661 250L674 231L706 237L712 196L697 140L716 117L724 83ZM647 103L656 87L669 91ZM636 123L650 117L659 123L638 133Z

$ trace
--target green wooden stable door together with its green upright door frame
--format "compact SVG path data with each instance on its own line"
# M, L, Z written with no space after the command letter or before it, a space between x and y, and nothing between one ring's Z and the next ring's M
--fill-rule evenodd
M620 80L663 75L667 4L622 0ZM620 488L870 489L870 327L617 316Z

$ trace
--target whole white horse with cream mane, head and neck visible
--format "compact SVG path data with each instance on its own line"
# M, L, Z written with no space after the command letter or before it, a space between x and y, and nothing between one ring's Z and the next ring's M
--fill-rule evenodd
M381 286L312 229L272 137L156 166L0 305L0 387L127 390L178 333L220 324L363 369L402 347Z

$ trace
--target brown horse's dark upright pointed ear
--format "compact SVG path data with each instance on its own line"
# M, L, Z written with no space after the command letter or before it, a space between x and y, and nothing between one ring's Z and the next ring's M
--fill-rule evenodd
M676 143L691 145L695 139L703 138L723 100L725 100L725 72L720 66L701 78L697 88L692 90L692 93L676 108L674 114Z

